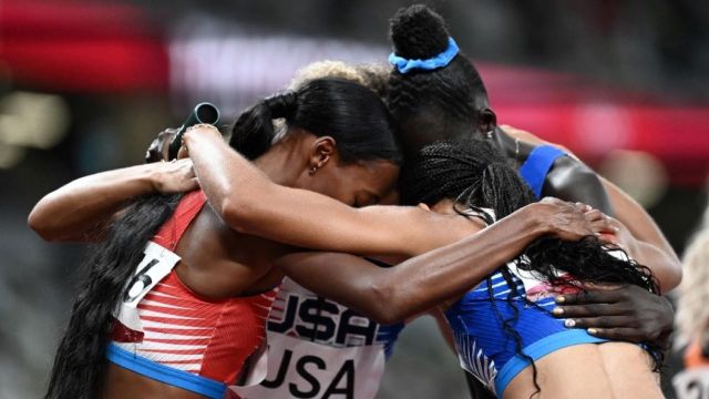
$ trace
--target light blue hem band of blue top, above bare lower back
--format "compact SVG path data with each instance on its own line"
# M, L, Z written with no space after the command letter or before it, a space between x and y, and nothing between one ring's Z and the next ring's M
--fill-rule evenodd
M562 331L553 334L548 337L544 337L538 341L522 349L522 351L536 361L553 351L569 346L582 344L602 344L607 341L607 339L589 335L588 332L586 332L586 330L572 329L568 331ZM505 366L500 370L497 377L495 378L495 392L497 395L497 398L503 397L505 388L507 388L510 381L512 381L513 378L515 378L522 370L524 370L528 366L530 362L520 355L515 355L515 357L513 357L505 364Z

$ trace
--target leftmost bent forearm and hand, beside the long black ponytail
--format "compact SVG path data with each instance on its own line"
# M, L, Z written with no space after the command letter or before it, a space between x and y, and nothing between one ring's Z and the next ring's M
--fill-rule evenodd
M47 241L101 239L106 224L126 201L197 186L189 160L96 173L45 195L34 205L28 224Z

